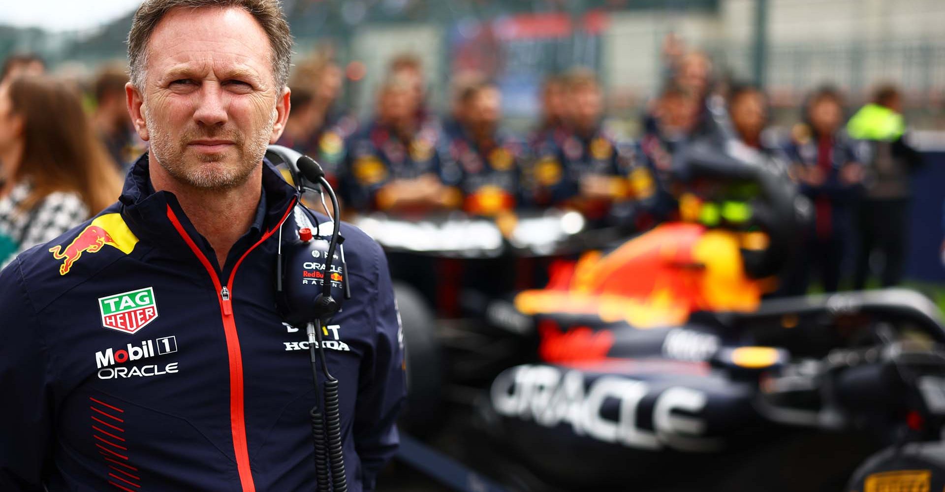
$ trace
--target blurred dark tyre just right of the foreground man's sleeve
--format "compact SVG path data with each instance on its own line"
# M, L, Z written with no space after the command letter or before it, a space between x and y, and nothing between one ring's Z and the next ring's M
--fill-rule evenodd
M404 327L407 399L401 429L418 437L435 433L443 421L443 357L436 320L420 292L394 283L394 297Z

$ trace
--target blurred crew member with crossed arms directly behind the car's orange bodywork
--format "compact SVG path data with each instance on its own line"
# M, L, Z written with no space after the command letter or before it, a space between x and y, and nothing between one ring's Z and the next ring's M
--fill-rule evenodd
M535 150L535 200L575 208L604 225L613 204L655 195L653 174L635 145L618 144L601 127L603 93L593 74L568 77L568 104L570 134L559 145L549 139Z

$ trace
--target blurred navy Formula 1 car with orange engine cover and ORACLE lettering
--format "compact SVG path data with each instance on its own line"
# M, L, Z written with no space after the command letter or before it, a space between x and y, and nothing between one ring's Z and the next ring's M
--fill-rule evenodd
M473 355L507 369L478 365L464 459L519 490L941 490L941 315L907 290L763 299L798 267L808 207L715 117L676 156L690 221L484 302ZM444 340L416 335L434 321L404 298L428 382Z

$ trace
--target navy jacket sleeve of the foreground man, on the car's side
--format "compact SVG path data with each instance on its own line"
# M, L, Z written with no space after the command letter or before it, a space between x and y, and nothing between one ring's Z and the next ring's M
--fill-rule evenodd
M354 416L354 446L361 458L365 490L374 489L377 474L400 444L396 422L406 397L400 314L384 251L375 244L374 254L378 280L373 303L374 353L362 369Z

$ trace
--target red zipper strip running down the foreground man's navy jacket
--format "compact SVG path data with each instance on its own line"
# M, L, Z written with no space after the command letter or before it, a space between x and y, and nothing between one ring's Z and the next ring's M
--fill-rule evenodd
M227 280L227 284L223 285L220 282L219 275L216 274L216 269L214 265L210 263L210 260L207 259L207 255L203 254L203 251L194 243L194 240L190 237L190 234L183 229L183 226L180 224L180 220L177 217L177 214L171 209L171 206L167 206L167 218L170 219L171 224L174 225L174 229L177 229L180 237L183 238L184 242L187 243L187 246L190 246L190 249L197 256L197 259L207 270L207 273L210 274L210 280L214 282L214 288L216 289L217 300L220 303L220 316L223 319L223 332L226 334L227 339L227 352L230 359L230 431L232 433L233 439L233 454L236 456L236 469L239 472L240 484L243 486L243 492L256 492L256 484L252 481L252 472L249 468L249 447L246 442L246 412L244 408L244 394L243 394L243 356L240 352L239 346L239 334L236 331L236 320L233 317L232 309L232 289L233 289L233 280L236 278L236 270L239 268L239 265L243 263L243 260L249 255L256 246L263 244L266 239L269 239L273 233L275 233L279 228L283 226L283 222L288 218L289 212L292 212L292 209L295 208L295 200L289 205L288 210L285 211L282 220L279 221L279 224L271 230L266 231L263 234L263 237L260 238L256 244L249 247L246 252L243 253L243 256L239 258L235 265L233 265L232 272L230 272L230 279Z

